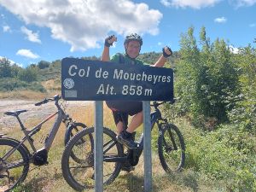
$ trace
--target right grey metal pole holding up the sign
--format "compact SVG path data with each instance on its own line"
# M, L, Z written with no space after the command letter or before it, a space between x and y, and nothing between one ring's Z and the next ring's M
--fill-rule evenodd
M150 102L143 102L144 191L152 190Z

